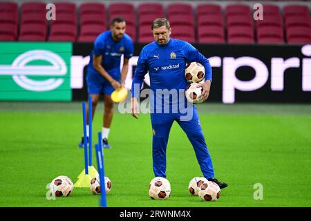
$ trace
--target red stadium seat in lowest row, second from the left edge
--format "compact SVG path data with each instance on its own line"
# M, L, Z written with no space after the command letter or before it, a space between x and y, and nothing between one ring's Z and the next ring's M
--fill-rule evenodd
M19 41L45 41L46 25L42 23L23 23L19 32Z

